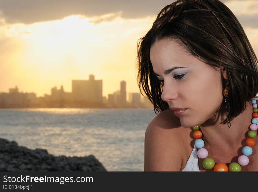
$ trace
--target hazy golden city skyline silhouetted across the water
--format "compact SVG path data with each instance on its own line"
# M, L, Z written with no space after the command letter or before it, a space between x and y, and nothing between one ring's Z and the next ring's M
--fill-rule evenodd
M37 97L34 92L19 92L17 86L9 93L0 92L0 108L149 108L152 103L140 93L126 92L126 81L120 81L120 89L103 96L103 79L72 79L72 92L61 85L51 88L51 94ZM128 97L127 97L128 95Z

